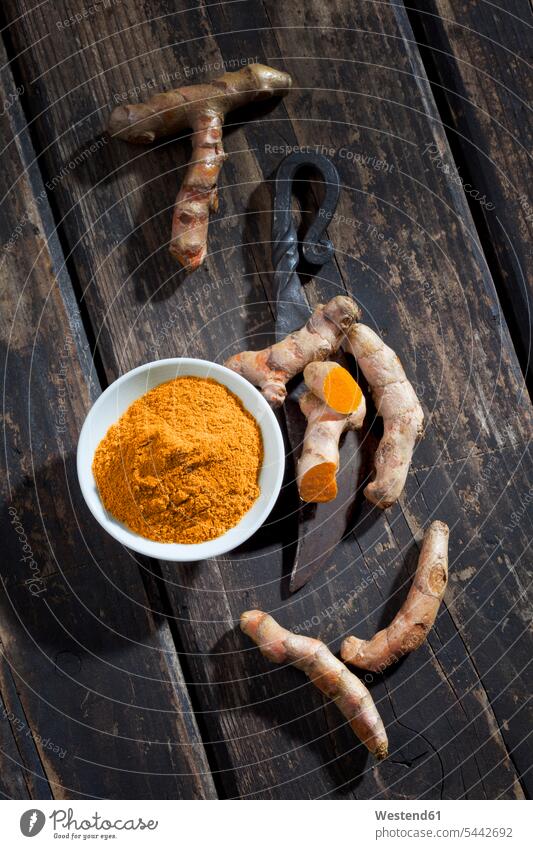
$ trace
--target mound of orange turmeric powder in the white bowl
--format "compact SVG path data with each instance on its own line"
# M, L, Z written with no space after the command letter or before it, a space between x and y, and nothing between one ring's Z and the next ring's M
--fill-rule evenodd
M199 543L234 527L259 495L261 430L215 380L178 377L137 399L96 449L104 507L157 542Z

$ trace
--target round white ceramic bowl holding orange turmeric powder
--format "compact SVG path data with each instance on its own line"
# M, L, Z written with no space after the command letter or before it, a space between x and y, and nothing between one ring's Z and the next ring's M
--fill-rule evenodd
M111 516L100 500L92 472L94 452L109 427L141 395L175 377L211 377L237 395L256 419L263 435L264 460L259 476L261 493L241 521L225 534L196 545L153 542L130 531ZM139 554L159 560L194 561L216 557L236 548L263 524L281 489L285 466L283 437L278 422L260 392L243 377L208 360L176 358L139 366L115 380L94 403L78 441L78 479L83 497L95 519L119 542Z

